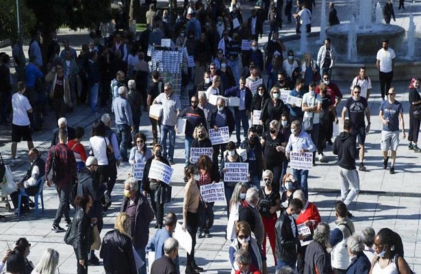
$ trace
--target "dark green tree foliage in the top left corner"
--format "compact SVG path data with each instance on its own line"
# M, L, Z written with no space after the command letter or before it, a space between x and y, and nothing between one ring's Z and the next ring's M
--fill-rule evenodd
M29 37L29 31L36 24L34 12L25 2L21 1L22 34ZM1 0L0 8L0 40L18 38L18 23L16 15L16 0Z

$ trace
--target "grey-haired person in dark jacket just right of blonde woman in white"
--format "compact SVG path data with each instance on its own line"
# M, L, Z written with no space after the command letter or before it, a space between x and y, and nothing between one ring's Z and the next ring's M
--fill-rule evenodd
M246 199L238 208L238 221L246 221L251 231L255 234L257 245L261 245L264 238L264 225L259 214L259 190L257 188L248 188Z

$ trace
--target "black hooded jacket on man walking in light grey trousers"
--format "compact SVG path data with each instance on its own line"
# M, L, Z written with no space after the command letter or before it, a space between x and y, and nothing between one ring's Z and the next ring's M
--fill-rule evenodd
M356 169L355 159L358 157L358 151L355 137L348 132L341 132L333 143L333 154L337 155L337 164L342 169Z

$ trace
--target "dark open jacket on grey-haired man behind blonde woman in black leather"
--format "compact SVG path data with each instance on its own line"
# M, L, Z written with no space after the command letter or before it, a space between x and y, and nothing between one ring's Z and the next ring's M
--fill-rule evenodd
M155 215L148 200L139 191L136 199L138 199L138 206L136 207L135 234L131 235L131 240L135 249L144 249L149 240L149 224ZM129 203L130 199L124 196L120 212L125 212Z

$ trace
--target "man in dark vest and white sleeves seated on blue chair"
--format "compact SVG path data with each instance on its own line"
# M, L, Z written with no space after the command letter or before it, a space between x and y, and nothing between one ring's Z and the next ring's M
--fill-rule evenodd
M12 203L15 209L18 208L18 194L21 192L21 188L25 188L25 192L27 195L36 195L38 192L40 186L44 184L44 182L41 182L40 184L36 184L38 182L38 179L45 174L45 162L40 158L40 154L38 153L38 149L29 149L29 162L31 166L29 166L29 169L21 180L21 182L18 184L18 190L10 193L10 198L12 199ZM29 199L27 196L22 196L22 206L21 206L21 212L27 212L29 211Z

